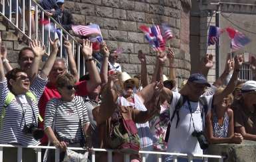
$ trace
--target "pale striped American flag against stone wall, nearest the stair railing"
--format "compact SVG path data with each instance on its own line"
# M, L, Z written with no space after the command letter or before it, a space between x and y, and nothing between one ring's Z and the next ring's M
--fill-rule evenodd
M100 27L98 24L90 24L87 26L84 25L72 25L72 30L75 34L81 35L81 36L88 36L91 34L98 34L102 35L100 32Z

